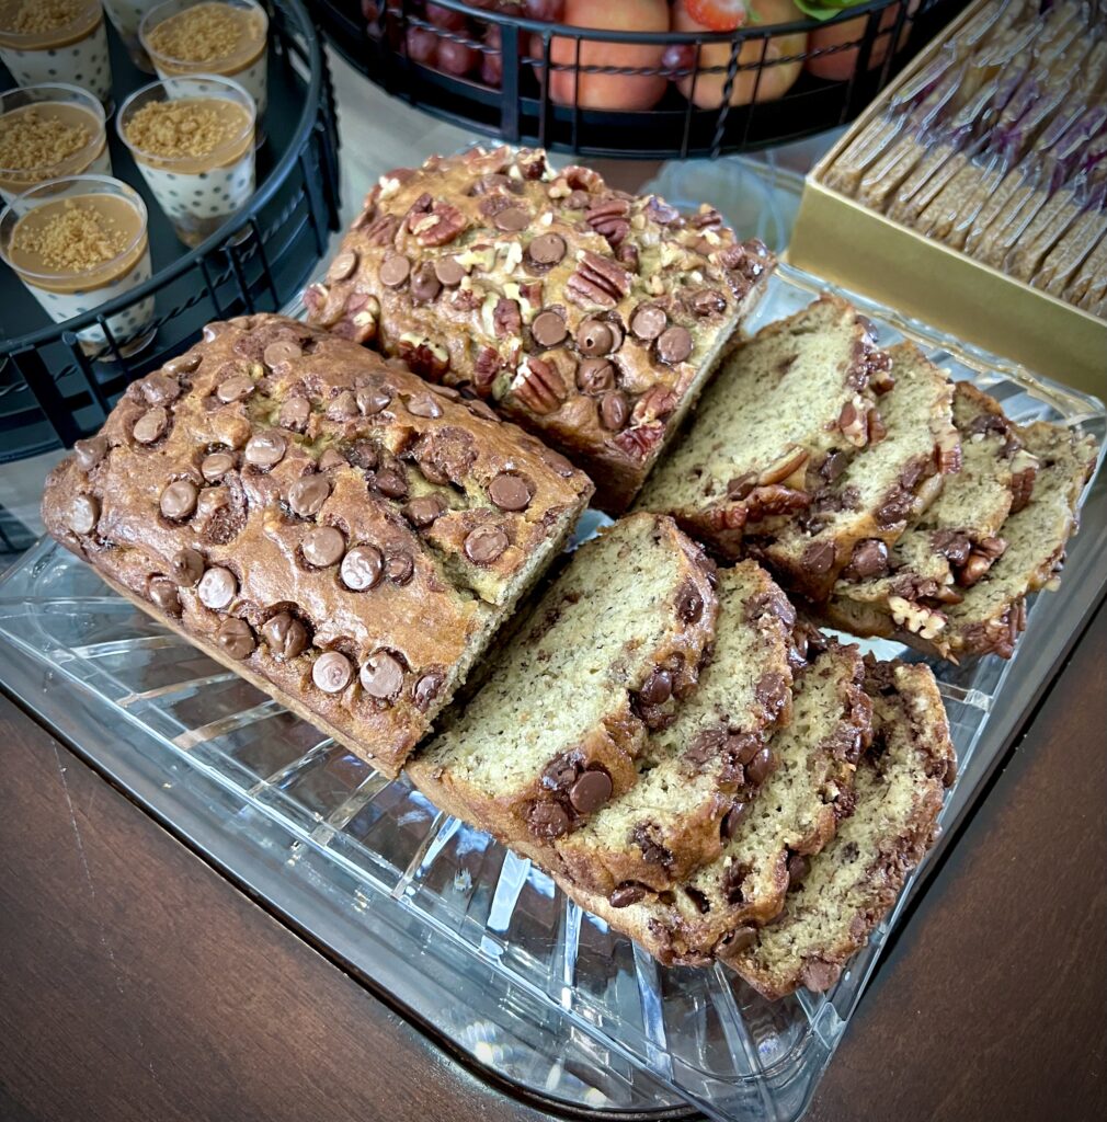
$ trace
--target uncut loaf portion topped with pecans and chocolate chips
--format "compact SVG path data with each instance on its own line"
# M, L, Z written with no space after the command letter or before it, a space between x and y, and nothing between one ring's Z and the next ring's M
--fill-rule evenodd
M609 187L541 150L391 172L322 284L313 323L472 387L625 508L774 260L702 208Z

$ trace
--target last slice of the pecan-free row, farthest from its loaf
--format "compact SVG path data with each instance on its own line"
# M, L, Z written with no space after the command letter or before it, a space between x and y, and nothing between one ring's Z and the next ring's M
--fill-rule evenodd
M936 836L955 761L934 675L869 663L872 744L858 765L854 809L788 892L780 917L721 957L770 1000L829 990L895 904Z

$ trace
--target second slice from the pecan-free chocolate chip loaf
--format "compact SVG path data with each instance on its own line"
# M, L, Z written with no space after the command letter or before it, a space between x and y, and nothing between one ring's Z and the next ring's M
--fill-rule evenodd
M557 843L569 877L604 895L671 888L722 852L772 767L772 729L792 712L796 614L753 561L719 573L711 661L670 725L648 735L638 782Z

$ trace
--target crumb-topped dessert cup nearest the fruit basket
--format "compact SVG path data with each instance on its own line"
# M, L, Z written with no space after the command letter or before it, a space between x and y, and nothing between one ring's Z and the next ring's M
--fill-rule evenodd
M265 112L269 17L254 0L166 0L143 19L139 37L161 79L231 77Z

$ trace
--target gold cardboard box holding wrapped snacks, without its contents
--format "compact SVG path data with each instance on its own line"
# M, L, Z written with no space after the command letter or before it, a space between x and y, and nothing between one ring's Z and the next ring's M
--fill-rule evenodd
M1107 321L931 241L821 182L857 131L937 54L949 34L988 2L994 0L970 4L812 168L788 259L963 342L1105 397Z

